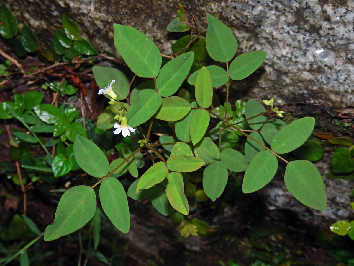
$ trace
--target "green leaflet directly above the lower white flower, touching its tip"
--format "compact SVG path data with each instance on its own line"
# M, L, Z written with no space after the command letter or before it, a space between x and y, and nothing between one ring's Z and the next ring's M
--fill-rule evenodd
M127 112L128 125L137 127L152 117L161 106L160 94L152 89L141 90Z

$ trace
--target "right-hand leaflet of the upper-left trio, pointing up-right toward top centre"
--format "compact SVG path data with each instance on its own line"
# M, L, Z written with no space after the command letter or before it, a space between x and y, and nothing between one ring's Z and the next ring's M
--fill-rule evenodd
M161 96L171 96L181 87L182 82L187 77L194 53L187 52L179 55L164 65L156 79L156 87Z

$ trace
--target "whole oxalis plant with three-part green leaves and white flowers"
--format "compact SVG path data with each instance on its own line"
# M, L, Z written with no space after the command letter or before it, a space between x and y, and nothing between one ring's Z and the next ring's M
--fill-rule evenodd
M233 33L212 15L206 14L206 17L208 30L205 39L200 37L196 40L193 34L187 38L191 43L205 41L207 54L211 59L224 63L225 69L216 65L197 69L188 78L188 83L195 86L194 95L187 97L184 97L186 90L181 85L195 65L194 52L188 51L187 46L180 55L171 56L171 60L161 67L161 53L152 40L135 28L114 24L114 44L119 54L136 76L151 80L130 91L129 80L118 69L93 67L98 86L104 88L98 94L109 99L97 126L113 128L115 134L122 133L123 137L139 136L137 149L122 149L122 158L109 164L96 144L76 135L73 147L76 162L87 174L97 177L97 183L70 188L62 195L54 222L45 230L45 240L72 233L91 220L97 208L94 190L97 186L103 211L116 228L127 233L130 227L127 194L118 177L127 168L132 176L138 177L135 160L143 155L152 158L153 164L131 184L128 195L136 200L150 198L163 215L169 214L170 205L181 214L189 213L185 191L188 188L190 192L191 183L188 181L194 171L202 172L202 193L215 201L228 182L228 171L245 171L242 190L251 193L272 180L278 163L286 164L285 185L297 200L313 209L326 208L324 182L314 164L307 160L289 162L282 157L307 140L315 119L300 118L288 125L278 118L266 122L266 113L276 112L279 117L284 113L273 107L272 98L263 101L270 106L267 111L260 102L248 101L244 106L245 119L235 120L228 102L230 80L249 76L267 54L252 51L234 58L238 43ZM227 92L225 108L213 106L216 98L213 87L223 84ZM179 96L174 96L177 92ZM169 155L160 154L156 149L161 144L150 142L153 123L158 120L174 123L177 141L170 138L170 143L162 143L172 146ZM210 128L212 132L208 131ZM225 148L221 145L223 132L247 137L245 156L230 146ZM215 133L219 133L218 140L209 137ZM142 149L149 152L142 154Z

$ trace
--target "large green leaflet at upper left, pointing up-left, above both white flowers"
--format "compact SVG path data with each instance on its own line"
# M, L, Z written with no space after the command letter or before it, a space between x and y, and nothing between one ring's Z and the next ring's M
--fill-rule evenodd
M159 74L162 57L159 48L145 34L121 24L113 24L114 45L137 76L154 78Z

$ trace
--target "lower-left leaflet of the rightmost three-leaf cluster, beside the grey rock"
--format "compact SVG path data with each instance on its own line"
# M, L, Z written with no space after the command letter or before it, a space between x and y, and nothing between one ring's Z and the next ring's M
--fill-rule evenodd
M245 172L242 191L251 193L263 188L272 180L277 169L278 161L275 155L269 150L260 151L253 157Z

